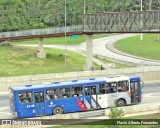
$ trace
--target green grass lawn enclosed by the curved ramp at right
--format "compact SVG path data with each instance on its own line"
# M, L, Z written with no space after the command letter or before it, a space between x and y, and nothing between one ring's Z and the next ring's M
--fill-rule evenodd
M115 43L115 48L122 52L148 59L160 60L160 42L158 34L143 34L143 41L140 36L121 39Z

